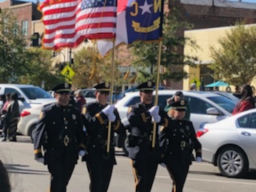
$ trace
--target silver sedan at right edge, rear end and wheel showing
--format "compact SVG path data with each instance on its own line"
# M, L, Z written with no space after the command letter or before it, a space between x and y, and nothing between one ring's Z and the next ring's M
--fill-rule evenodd
M256 169L256 109L206 123L197 135L202 159L218 166L222 175L238 178Z

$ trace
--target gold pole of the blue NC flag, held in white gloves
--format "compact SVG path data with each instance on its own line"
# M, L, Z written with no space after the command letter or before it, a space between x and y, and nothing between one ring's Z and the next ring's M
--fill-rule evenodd
M158 71L157 71L157 82L155 85L154 106L158 105L158 88L159 88L159 79L160 79L161 52L162 52L162 39L158 42L158 68L157 68ZM155 146L156 131L157 131L157 124L156 124L156 122L154 122L152 148L154 148L154 146Z

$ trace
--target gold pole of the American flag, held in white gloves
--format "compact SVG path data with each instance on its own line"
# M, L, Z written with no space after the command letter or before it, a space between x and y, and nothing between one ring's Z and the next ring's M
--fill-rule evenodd
M110 105L113 104L113 92L114 92L114 39L112 48L112 64L111 64L111 82L110 82ZM111 122L109 121L109 126L107 130L106 139L106 153L110 153L110 137L111 137Z

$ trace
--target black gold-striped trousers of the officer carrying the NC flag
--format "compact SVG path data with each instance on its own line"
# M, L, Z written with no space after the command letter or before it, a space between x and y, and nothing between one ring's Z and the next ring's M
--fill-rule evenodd
M150 192L154 176L158 170L158 162L154 158L143 161L132 160L136 192Z

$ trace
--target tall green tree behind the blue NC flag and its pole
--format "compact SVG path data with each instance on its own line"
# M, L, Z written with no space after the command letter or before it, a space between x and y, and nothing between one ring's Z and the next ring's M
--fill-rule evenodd
M188 74L183 67L194 66L194 62L197 61L196 57L183 54L182 50L186 43L190 43L194 49L197 45L189 38L184 38L182 31L189 29L190 25L187 22L179 22L178 14L178 10L174 8L164 16L161 66L164 66L166 70L161 74L160 80L180 81L182 78L187 78ZM158 43L134 42L131 52L134 55L132 65L137 66L138 70L138 82L155 79L158 65Z

